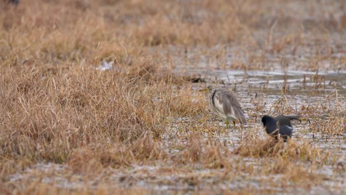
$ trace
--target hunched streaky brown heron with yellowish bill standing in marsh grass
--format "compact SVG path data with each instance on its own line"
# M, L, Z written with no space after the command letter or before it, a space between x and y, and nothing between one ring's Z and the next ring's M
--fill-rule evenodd
M208 92L210 108L217 112L222 118L226 119L227 129L230 121L233 122L234 126L235 122L238 120L242 125L246 124L243 110L240 107L236 95L232 91L213 85L209 85L207 88L199 91Z

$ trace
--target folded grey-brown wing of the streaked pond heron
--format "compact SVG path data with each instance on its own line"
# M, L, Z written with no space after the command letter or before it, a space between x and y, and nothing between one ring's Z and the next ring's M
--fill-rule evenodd
M225 113L228 117L239 119L242 124L246 124L239 101L231 91L226 89L218 90L213 96L213 101L215 108L220 112Z

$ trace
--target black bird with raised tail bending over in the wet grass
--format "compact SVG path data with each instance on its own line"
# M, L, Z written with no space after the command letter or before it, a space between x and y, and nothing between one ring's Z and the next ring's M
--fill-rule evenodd
M292 137L293 127L291 120L300 121L299 118L300 115L279 115L275 118L264 115L262 117L262 123L269 135L275 137L275 139L278 139L278 137L281 136L284 142L286 142L289 137ZM279 128L277 125L279 125Z

